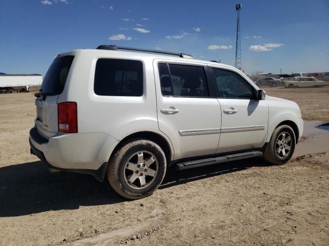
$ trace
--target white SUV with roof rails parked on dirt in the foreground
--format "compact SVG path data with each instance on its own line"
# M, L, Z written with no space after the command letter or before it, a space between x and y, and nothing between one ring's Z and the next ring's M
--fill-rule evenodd
M66 52L35 96L31 153L51 171L106 175L130 199L152 194L172 165L285 163L303 133L293 101L266 96L231 66L171 52Z

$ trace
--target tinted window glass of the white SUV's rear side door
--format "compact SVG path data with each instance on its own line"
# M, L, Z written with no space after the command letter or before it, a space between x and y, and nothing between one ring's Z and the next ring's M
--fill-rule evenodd
M169 70L171 75L170 80L166 78L167 76L169 77L168 69L166 70L164 66L159 67L162 95L186 97L209 96L203 67L169 64ZM171 84L169 84L169 81Z

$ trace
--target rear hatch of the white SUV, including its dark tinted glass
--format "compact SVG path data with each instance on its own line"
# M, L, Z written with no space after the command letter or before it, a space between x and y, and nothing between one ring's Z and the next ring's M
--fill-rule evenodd
M58 133L57 99L64 90L73 59L72 55L54 59L42 81L39 93L35 94L35 124L39 134L46 139Z

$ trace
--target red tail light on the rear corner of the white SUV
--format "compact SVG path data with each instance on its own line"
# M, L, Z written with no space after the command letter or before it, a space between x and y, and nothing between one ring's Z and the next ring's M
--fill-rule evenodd
M75 101L58 104L58 131L64 133L78 132L78 111Z

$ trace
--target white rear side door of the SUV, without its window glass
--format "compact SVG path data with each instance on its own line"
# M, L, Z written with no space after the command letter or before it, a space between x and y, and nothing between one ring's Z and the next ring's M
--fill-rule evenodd
M162 96L158 72L158 63L161 62L175 64L177 60L155 59L153 61L159 129L170 138L175 150L174 159L214 154L220 140L218 131L221 127L220 104L215 98ZM195 64L193 61L184 64L206 65ZM176 114L161 112L171 107L178 109L179 112ZM211 131L205 132L207 129ZM189 131L189 134L184 134L184 131Z

